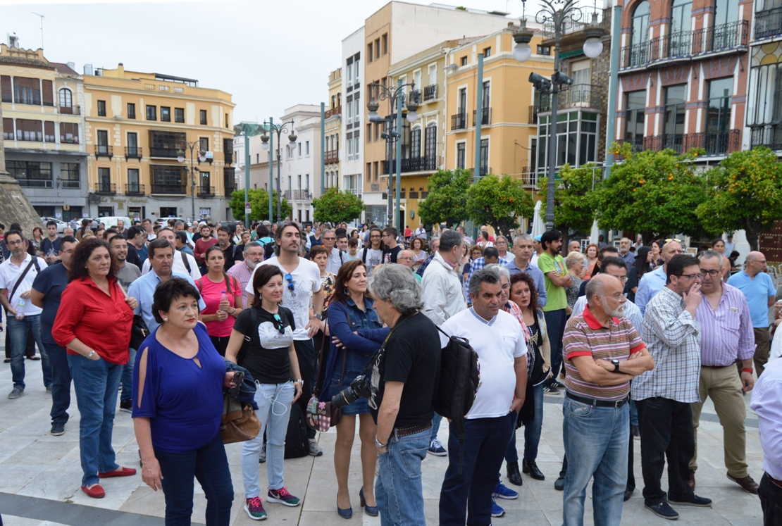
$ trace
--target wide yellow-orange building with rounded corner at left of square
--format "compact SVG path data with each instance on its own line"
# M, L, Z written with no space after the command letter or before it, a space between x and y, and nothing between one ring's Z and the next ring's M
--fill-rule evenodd
M125 70L122 63L90 70L85 66L84 135L97 215L231 219L231 95L199 88L194 79ZM185 143L196 143L191 174Z

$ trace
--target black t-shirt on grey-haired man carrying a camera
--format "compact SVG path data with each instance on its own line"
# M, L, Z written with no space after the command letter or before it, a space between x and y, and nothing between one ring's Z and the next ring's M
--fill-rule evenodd
M432 421L432 400L439 377L441 352L439 332L432 320L421 313L400 318L378 363L380 385L375 399L375 407L379 409L386 381L404 382L394 428L410 428ZM377 423L378 410L370 411Z

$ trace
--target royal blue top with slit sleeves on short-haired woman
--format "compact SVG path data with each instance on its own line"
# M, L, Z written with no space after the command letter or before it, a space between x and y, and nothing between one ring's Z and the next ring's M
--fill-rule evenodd
M142 389L133 389L133 417L149 418L154 449L180 453L208 444L220 432L223 417L225 363L212 345L206 327L196 324L199 349L194 359L183 358L157 341L157 329L136 354L133 385L138 386L139 363L146 349ZM138 394L143 392L141 406Z

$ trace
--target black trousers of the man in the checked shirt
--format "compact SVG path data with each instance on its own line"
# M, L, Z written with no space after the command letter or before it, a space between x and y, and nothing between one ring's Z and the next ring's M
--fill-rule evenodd
M692 410L689 403L662 397L637 400L640 425L640 463L647 506L665 502L662 470L668 460L668 497L691 499L690 460L695 454Z

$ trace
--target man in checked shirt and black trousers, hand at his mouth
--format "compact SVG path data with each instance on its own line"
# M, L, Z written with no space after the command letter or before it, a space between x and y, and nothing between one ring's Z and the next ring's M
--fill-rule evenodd
M664 519L679 513L670 503L711 507L688 484L695 453L692 403L701 401L701 324L695 313L701 304L701 267L693 256L677 254L666 264L667 279L644 313L647 349L655 369L633 380L631 395L640 422L640 461L644 474L644 505ZM666 496L662 470L668 460Z

